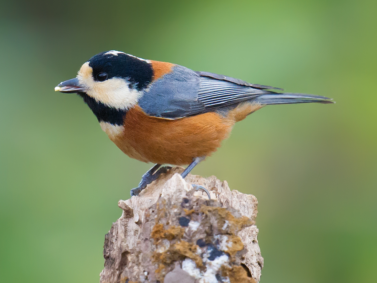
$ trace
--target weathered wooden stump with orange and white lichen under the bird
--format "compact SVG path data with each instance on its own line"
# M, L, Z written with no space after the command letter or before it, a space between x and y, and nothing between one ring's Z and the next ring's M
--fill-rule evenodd
M101 283L256 283L263 258L257 199L226 181L176 167L140 196L120 200L122 216L105 236ZM211 200L191 184L210 191Z

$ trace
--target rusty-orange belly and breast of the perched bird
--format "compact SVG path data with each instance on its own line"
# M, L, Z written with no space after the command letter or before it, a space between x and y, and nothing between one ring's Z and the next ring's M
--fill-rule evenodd
M131 158L159 164L185 165L208 156L227 138L234 120L208 112L176 120L147 116L130 109L121 128L106 129L109 138Z

